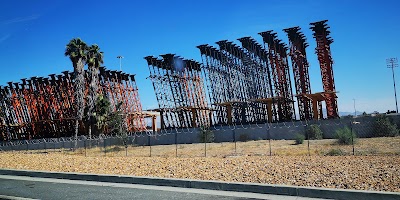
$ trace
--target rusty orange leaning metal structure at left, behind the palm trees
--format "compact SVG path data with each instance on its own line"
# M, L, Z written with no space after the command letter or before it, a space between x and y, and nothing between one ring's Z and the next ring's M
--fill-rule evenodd
M146 130L135 76L100 68L99 94L115 109L122 102L122 114L129 132ZM86 90L88 80L86 79ZM69 137L73 134L73 74L50 74L49 77L21 79L0 87L0 140ZM85 92L87 94L87 92ZM85 134L81 123L80 134Z

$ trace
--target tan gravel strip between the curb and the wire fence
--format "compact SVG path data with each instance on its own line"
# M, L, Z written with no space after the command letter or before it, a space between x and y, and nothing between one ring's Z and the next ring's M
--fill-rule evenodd
M0 153L0 168L400 192L400 156L153 158Z

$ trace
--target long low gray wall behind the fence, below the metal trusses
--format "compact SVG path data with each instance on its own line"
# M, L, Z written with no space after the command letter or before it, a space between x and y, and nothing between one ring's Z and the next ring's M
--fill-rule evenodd
M398 126L400 125L399 115L389 115L389 118ZM239 125L239 126L213 126L211 131L214 134L214 142L233 142L241 141L246 138L248 140L291 140L295 138L297 133L304 133L307 126L316 124L320 127L324 134L324 138L334 138L335 131L345 126L350 127L352 122L357 123L353 125L353 130L357 137L372 137L373 124L376 118L371 116L358 117L358 118L342 118L333 120L319 120L319 121L296 121L287 123L272 123L272 124L252 124L252 125ZM136 133L129 136L128 144L147 146L147 145L166 145L166 144L191 144L200 143L200 130L193 129L174 129L163 130L158 132L156 136L149 136L149 133ZM103 138L95 140L80 139L78 147L85 146L111 146L122 145L121 138ZM0 144L0 150L34 150L34 149L61 149L73 148L74 142L71 138L58 138L58 139L40 139L35 141L13 141L12 143Z

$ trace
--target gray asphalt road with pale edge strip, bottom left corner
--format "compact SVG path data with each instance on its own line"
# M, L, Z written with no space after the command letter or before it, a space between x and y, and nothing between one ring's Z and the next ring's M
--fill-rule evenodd
M0 199L312 200L314 198L0 175Z

